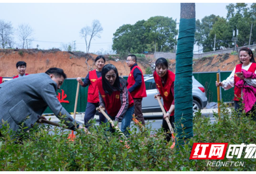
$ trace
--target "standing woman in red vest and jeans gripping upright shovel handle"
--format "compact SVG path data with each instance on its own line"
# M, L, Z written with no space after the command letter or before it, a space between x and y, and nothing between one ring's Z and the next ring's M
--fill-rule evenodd
M101 70L103 66L105 65L105 57L104 56L98 56L95 59L95 64L97 69L90 71L84 81L82 81L82 78L77 78L76 80L79 81L80 85L82 87L88 88L88 99L87 99L87 106L86 111L84 115L84 125L86 125L86 128L89 127L88 121L91 119L94 119L94 116L96 114L96 108L99 107L99 90L97 87L97 80L101 78ZM107 120L101 113L99 114L99 124L106 123Z

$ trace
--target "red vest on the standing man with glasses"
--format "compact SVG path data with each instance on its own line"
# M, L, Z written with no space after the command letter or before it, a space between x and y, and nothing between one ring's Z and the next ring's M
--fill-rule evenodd
M142 79L142 83L141 86L139 88L137 88L136 90L132 91L131 95L132 98L144 98L147 97L147 93L146 93L146 85L145 85L145 81L144 81L144 77L143 77L143 73L141 71L141 69L139 68L139 66L134 66L134 68L132 69L127 81L128 81L128 89L130 89L134 84L135 84L135 79L134 79L134 70L138 68L139 71L141 72L141 79Z

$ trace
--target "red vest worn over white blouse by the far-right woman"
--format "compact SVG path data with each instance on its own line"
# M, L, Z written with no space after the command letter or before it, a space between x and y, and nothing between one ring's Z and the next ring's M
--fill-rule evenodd
M242 71L242 66L243 64L238 64L236 67L235 67L235 73L237 72L241 72ZM250 68L248 69L248 72L255 72L256 71L256 63L252 63ZM239 77L237 77L237 75L235 74L235 84L240 80ZM234 100L235 101L239 101L239 98L241 98L241 94L242 94L242 88L238 88L235 86L235 98Z

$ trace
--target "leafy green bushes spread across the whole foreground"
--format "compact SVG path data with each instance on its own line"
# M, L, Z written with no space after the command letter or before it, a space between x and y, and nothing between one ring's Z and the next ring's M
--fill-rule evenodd
M230 144L255 144L255 121L232 109L222 107L222 118L211 124L210 118L198 113L194 119L194 138L185 140L184 146L170 149L172 143L164 140L164 132L152 130L150 125L143 131L134 125L128 140L106 132L109 124L90 127L91 135L76 134L74 142L67 140L70 132L50 126L36 125L24 132L22 139L11 138L8 127L1 129L1 171L246 171L255 170L256 159L232 159L244 161L242 167L207 167L207 160L189 160L193 143L218 142ZM120 141L122 140L122 142ZM183 140L176 140L176 142ZM129 148L126 148L126 145ZM179 144L178 144L179 145ZM221 162L228 159L218 160Z

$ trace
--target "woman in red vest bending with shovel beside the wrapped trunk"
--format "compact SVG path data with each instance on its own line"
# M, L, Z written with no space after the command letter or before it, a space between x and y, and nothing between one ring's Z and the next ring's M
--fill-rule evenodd
M166 115L162 122L162 127L165 132L170 132L168 124L165 121L165 118L168 117L174 128L174 81L175 74L168 70L168 62L164 58L157 59L156 68L154 72L155 82L157 84L157 89L160 96L164 100L164 109ZM171 140L172 134L166 135L166 140L169 142Z

